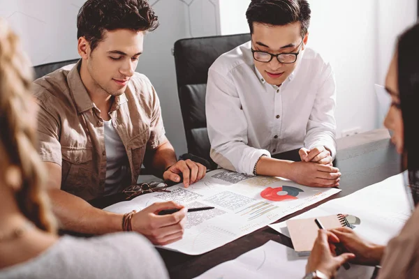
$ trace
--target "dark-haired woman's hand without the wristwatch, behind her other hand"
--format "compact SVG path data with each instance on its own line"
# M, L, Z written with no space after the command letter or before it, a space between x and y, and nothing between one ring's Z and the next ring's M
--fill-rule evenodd
M355 259L351 262L370 266L380 264L385 246L379 246L361 239L353 229L348 227L330 229L330 232L339 239L346 251L355 255Z

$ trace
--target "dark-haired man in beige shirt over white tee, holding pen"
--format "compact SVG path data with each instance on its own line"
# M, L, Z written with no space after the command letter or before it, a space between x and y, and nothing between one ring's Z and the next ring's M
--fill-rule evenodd
M34 82L40 105L39 153L49 171L50 198L61 227L105 234L121 231L123 216L86 200L135 184L144 164L163 179L188 187L205 167L176 160L165 136L159 98L145 75L135 73L147 31L158 27L145 0L88 0L78 15L75 66ZM177 213L159 216L163 209ZM155 244L182 238L186 209L175 202L134 213L130 227Z

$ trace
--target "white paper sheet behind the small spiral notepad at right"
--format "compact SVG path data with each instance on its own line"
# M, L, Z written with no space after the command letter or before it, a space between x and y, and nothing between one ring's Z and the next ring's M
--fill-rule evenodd
M332 199L293 219L350 214L360 219L360 224L354 225L355 232L368 241L386 245L411 216L403 175L397 174L346 197ZM272 224L270 227L290 236L286 222Z

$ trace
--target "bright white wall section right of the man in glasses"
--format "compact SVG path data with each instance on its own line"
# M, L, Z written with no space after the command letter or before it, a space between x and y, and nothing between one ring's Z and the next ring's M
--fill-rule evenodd
M376 128L376 17L372 0L311 0L308 46L330 61L337 82L337 135ZM362 8L360 8L360 6Z

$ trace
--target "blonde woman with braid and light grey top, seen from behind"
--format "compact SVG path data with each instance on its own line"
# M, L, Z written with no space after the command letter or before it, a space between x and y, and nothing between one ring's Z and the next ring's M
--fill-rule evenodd
M0 20L0 278L168 278L133 232L59 238L36 151L36 103L20 44Z

